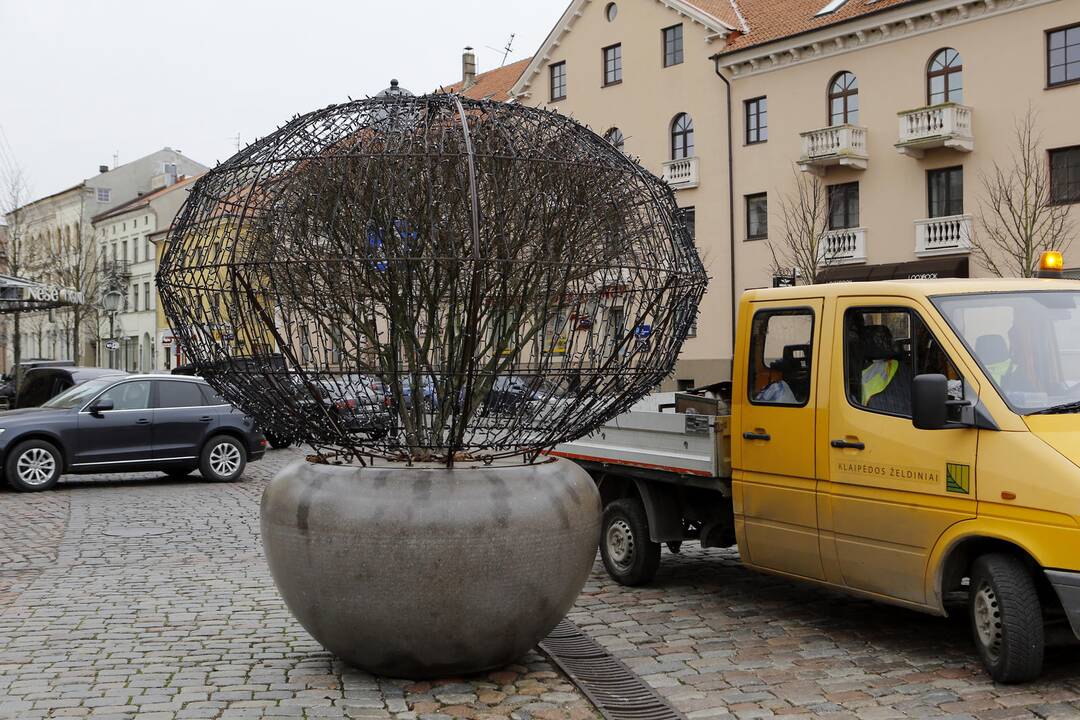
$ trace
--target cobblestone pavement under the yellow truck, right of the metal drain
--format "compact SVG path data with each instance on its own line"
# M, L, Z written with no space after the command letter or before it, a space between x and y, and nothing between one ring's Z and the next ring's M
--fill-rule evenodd
M690 720L1080 718L1080 649L996 685L963 615L932 617L758 574L738 553L663 552L650 587L596 571L570 620Z

